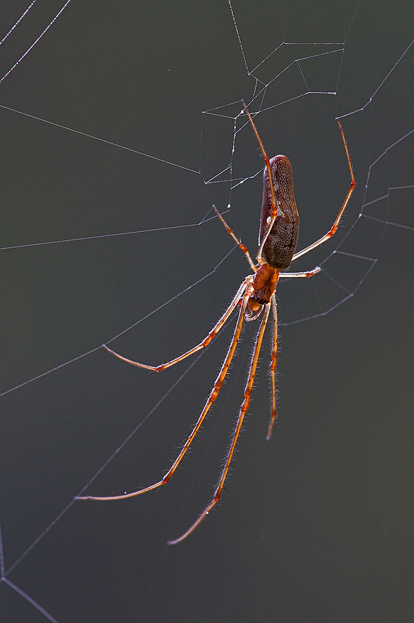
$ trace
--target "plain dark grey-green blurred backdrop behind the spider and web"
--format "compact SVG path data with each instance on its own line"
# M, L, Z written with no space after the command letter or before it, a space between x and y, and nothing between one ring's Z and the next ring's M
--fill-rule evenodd
M405 227L359 219L340 249L378 260L366 278L370 260L337 254L314 280L280 283L274 437L265 442L269 330L223 498L185 543L166 545L211 496L256 323L168 487L119 503L75 503L8 574L59 623L413 620L413 188L390 190L413 186L413 138L389 148L414 125L414 46L375 93L413 40L413 4L363 0L353 21L354 1L303 4L291 1L287 11L284 1L233 3L250 69L283 40L335 44L349 30L344 57L301 62L309 91L336 97L297 98L307 89L294 63L270 84L261 106L270 110L257 118L269 155L292 161L303 247L328 230L348 188L335 116L364 108L344 118L357 179L344 222L295 268L337 249L361 212L368 168L386 150L366 202L385 197L364 213ZM38 0L0 47L1 76L56 5ZM2 4L3 34L25 8ZM340 47L283 46L256 75L267 83L292 60ZM260 176L232 191L203 181L229 163L229 117L253 89L225 0L73 0L1 82L3 107L184 167L0 109L2 249L147 231L1 251L1 391L99 347L201 279L111 345L159 363L207 333L248 272L237 250L218 265L232 241L211 219L211 203L224 211L231 201L227 218L256 251ZM230 102L227 118L202 114ZM200 166L201 174L189 171ZM233 177L261 166L246 127ZM294 323L353 291L335 311ZM162 476L203 406L231 330L194 365L148 374L99 349L1 396L6 569L148 414L88 491L119 494ZM6 584L0 609L7 623L46 620Z

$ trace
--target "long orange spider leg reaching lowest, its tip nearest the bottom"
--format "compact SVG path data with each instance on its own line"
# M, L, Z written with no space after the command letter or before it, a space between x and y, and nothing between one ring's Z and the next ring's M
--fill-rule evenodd
M220 480L218 481L218 485L216 487L216 490L214 491L214 497L211 500L211 502L209 502L209 504L205 507L203 512L200 514L200 516L198 516L196 521L194 521L194 523L189 527L189 529L186 530L186 532L184 532L184 534L179 536L178 539L173 539L172 541L168 541L169 545L176 545L176 543L180 543L180 541L184 541L184 539L187 539L187 536L189 536L189 534L191 534L191 532L194 532L194 530L196 530L196 527L203 521L205 516L210 512L211 508L214 507L214 505L218 502L218 500L220 498L221 491L223 490L225 479L227 477L227 472L229 471L230 463L232 462L234 449L236 447L236 443L237 443L237 440L238 440L238 435L240 434L240 431L241 431L241 426L243 424L243 419L245 417L247 409L249 408L250 395L252 394L252 388L253 388L253 383L254 383L254 376L256 374L256 367L257 367L257 362L258 362L258 356L259 356L259 352L260 352L260 349L261 349L261 344L262 344L262 341L263 341L263 334L265 332L267 318L269 317L269 312L270 312L270 303L267 303L265 305L265 313L263 314L261 325L260 325L260 328L258 329L258 334L256 336L256 343L254 344L252 361L250 363L249 378L247 379L247 383L246 383L246 387L245 387L245 399L243 400L243 403L242 403L241 409L240 409L240 413L238 414L236 428L234 428L232 441L230 442L229 451L227 452L227 457L226 457L226 460L225 460L225 466L224 466L223 471L222 471L222 473L220 475Z

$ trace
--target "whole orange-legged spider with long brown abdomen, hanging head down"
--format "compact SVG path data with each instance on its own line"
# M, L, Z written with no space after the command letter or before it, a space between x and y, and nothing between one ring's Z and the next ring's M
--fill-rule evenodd
M317 246L323 244L323 242L326 242L330 239L330 237L335 234L339 221L341 220L341 216L344 213L346 204L348 204L348 201L352 194L352 190L355 186L354 174L352 171L352 165L350 163L350 157L348 153L348 147L346 145L344 132L342 130L340 121L337 120L339 129L341 130L342 141L344 141L346 159L348 160L348 167L350 170L350 187L346 194L344 203L339 210L337 218L335 219L335 222L328 231L328 233L319 238L319 240L317 240L313 244L310 244L310 246L302 249L302 251L294 253L299 235L299 215L297 211L296 201L294 199L292 168L290 166L290 161L288 160L288 158L286 158L286 156L274 156L274 158L272 158L271 160L267 157L261 138L260 136L258 136L258 132L256 126L254 125L252 116L247 110L247 106L245 105L244 101L243 107L245 113L250 120L250 124L252 125L254 134L256 134L256 138L265 159L265 169L263 171L263 203L261 208L261 221L258 235L259 247L256 256L256 264L254 264L250 253L249 251L247 251L244 244L241 242L241 240L238 240L232 229L229 228L229 226L220 215L220 213L218 213L218 210L216 210L215 207L214 210L216 211L216 215L225 226L229 235L234 238L236 244L238 244L241 251L243 251L243 253L245 254L245 257L247 258L247 262L249 262L250 264L253 274L248 275L245 280L243 280L241 286L238 288L236 294L234 295L232 303L230 303L223 316L221 316L220 320L218 320L218 323L216 323L216 325L213 327L213 329L211 329L211 331L203 339L203 341L201 341L198 345L194 346L194 348L191 348L189 351L185 352L179 357L176 357L176 359L171 359L171 361L168 361L167 363L162 363L161 365L146 365L144 363L138 363L138 361L131 361L131 359L126 359L126 357L117 354L108 346L104 345L106 350L117 356L119 359L122 359L122 361L132 363L133 365L138 365L139 368L145 368L146 370L155 370L156 372L160 372L161 370L165 370L171 365L182 361L183 359L190 356L191 354L194 354L198 350L205 348L207 344L209 344L211 340L218 334L220 329L223 328L229 317L232 315L234 309L239 306L240 310L238 311L237 324L236 328L234 329L232 341L230 342L229 350L227 351L227 355L218 374L218 377L216 378L213 389L211 390L207 402L200 416L198 417L198 420L193 430L191 431L191 434L189 435L187 441L182 447L180 453L178 454L178 457L173 462L169 471L167 471L162 480L155 482L149 487L145 487L145 489L140 489L139 491L133 491L132 493L123 494L120 496L78 496L76 498L78 500L122 500L124 498L138 496L142 493L145 493L146 491L158 489L158 487L165 485L173 475L174 471L176 471L178 464L180 464L182 460L182 457L185 455L185 453L189 449L191 442L194 440L194 437L196 437L196 434L200 430L200 426L203 424L209 408L218 396L218 392L220 391L220 387L223 384L223 381L229 370L229 365L232 362L234 352L236 351L238 339L241 335L243 321L246 320L247 322L251 322L252 320L256 320L256 318L261 316L263 312L261 325L258 329L256 341L254 343L252 361L250 362L243 403L241 404L236 427L234 428L234 432L232 434L232 440L229 446L229 450L227 451L223 471L221 472L220 479L218 480L218 484L216 485L216 489L214 491L214 496L207 504L203 512L198 516L196 521L191 524L189 529L186 530L184 534L179 536L178 539L173 539L172 541L169 541L169 545L174 545L175 543L180 543L180 541L184 541L184 539L187 539L187 536L189 536L191 532L194 532L196 527L203 521L205 516L209 513L211 508L214 507L214 505L218 502L218 499L220 498L221 491L223 491L225 479L229 471L229 466L232 462L234 449L236 447L238 435L241 431L243 419L245 417L247 409L249 408L250 395L252 394L254 376L256 374L256 367L261 344L263 341L263 334L265 332L267 320L269 318L270 309L272 309L274 327L272 358L270 364L270 376L272 379L272 415L270 417L270 423L267 429L267 439L270 439L270 436L272 435L274 419L276 418L275 370L277 359L278 326L275 292L279 276L282 274L283 277L313 277L314 275L319 273L319 271L321 270L319 267L314 268L312 271L301 273L286 273L284 271L290 267L291 262L297 260L297 258L300 258L301 255L309 253L309 251L312 251L312 249L316 249ZM243 110L241 111L241 114L243 114Z

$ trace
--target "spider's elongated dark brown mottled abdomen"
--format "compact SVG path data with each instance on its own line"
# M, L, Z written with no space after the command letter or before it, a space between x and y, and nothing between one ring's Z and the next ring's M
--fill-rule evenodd
M299 214L294 200L292 167L286 156L274 156L270 160L277 215L263 247L262 258L271 267L284 270L290 267L299 235ZM267 232L268 219L272 217L272 193L270 192L267 167L263 173L263 203L258 244Z

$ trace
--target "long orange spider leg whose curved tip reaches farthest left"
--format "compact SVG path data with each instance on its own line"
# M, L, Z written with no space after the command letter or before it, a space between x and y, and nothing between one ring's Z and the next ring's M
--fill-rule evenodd
M204 421L205 416L207 415L207 413L209 411L209 408L211 407L211 405L216 400L216 397L218 396L218 392L220 391L220 387L223 385L223 381L224 381L224 379L226 377L226 374L227 374L227 372L229 370L229 365L230 365L230 363L232 363L234 352L236 351L236 346L237 346L237 343L238 343L238 339L240 338L241 329L242 329L242 326L243 326L243 320L244 320L244 317L245 317L245 311L247 309L247 303L248 303L248 300L249 300L251 294L252 293L251 293L250 289L248 289L247 293L243 296L243 303L241 305L240 311L238 312L237 324L236 324L236 328L234 329L234 334L233 334L233 337L232 337L232 341L230 342L230 345L229 345L229 350L227 351L227 355L225 357L223 365L221 366L221 370L218 373L218 377L216 378L216 381L214 383L214 387L213 387L213 389L210 392L210 395L209 395L209 397L207 399L207 402L206 402L206 404L205 404L205 406L203 408L203 411L200 413L200 416L198 417L196 425L194 426L193 430L191 431L191 434L189 435L187 441L185 442L184 446L182 446L180 454L178 455L176 460L173 462L173 464L171 465L169 471L167 471L167 473L162 478L162 480L159 480L158 482L155 482L153 485L150 485L149 487L145 487L144 489L140 489L139 491L133 491L132 493L129 493L129 494L123 494L123 495L120 495L120 496L77 496L75 498L75 500L123 500L124 498L132 498L133 496L138 496L138 495L140 495L142 493L146 493L147 491L152 491L152 489L158 489L158 487L161 487L161 485L165 485L169 481L169 479L173 475L174 471L176 471L176 469L178 467L178 464L180 464L180 462L182 460L182 457L185 455L185 453L189 449L189 446L190 446L191 442L194 440L194 437L196 437L196 434L200 430L200 426L201 426L201 424L203 424L203 421ZM262 324L263 324L263 321L262 321ZM257 363L257 361L256 361L256 363ZM254 366L254 369L256 369L256 365Z

